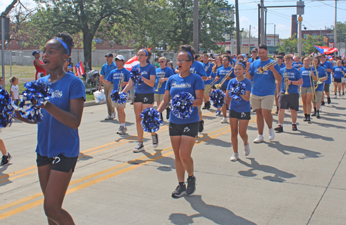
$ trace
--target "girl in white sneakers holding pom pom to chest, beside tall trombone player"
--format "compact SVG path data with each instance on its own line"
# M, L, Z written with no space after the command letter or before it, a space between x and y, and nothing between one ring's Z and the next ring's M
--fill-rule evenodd
M251 119L251 81L244 77L246 62L244 60L235 63L235 79L231 79L227 86L225 101L230 99L230 139L233 146L233 155L230 161L239 159L238 153L238 133L244 141L244 155L250 154L250 144L248 143L248 121ZM239 123L239 128L238 128Z

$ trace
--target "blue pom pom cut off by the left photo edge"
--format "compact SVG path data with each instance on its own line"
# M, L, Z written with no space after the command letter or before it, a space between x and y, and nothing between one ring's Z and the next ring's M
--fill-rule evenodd
M15 117L15 108L6 89L0 89L0 128L11 126Z

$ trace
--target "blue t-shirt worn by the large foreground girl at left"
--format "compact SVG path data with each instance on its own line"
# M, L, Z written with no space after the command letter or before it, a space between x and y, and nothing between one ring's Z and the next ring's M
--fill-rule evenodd
M62 79L51 84L48 78L39 80L48 84L53 90L51 103L62 110L70 111L70 100L83 98L85 101L85 86L78 77L66 73ZM78 129L73 130L62 124L42 108L43 119L37 124L36 153L47 157L56 157L60 154L65 157L77 157L80 154L80 137Z

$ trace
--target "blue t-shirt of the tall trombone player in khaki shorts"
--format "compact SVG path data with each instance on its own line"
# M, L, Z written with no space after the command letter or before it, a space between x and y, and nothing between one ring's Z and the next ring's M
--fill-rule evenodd
M253 77L253 88L251 93L257 96L267 96L275 94L275 77L271 70L266 70L263 73L258 72L258 68L266 66L268 63L273 61L273 59L268 59L267 61L256 60L251 63L250 72L251 77ZM280 66L275 65L275 70L280 73Z

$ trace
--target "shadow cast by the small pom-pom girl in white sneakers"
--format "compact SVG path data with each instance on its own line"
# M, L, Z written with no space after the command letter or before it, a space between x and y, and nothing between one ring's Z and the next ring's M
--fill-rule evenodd
M258 170L258 171L263 171L264 173L271 173L274 176L265 176L263 179L268 179L272 182L285 182L286 179L290 179L295 177L294 174L292 173L287 173L282 170L279 170L273 166L266 166L266 165L261 165L254 158L247 158L251 160L251 164L248 164L247 162L242 161L241 159L238 159L238 162L243 164L244 166L250 167L251 169L248 170L241 170L239 171L239 175L242 175L244 177L255 177L257 176L256 173L253 173L253 171Z

